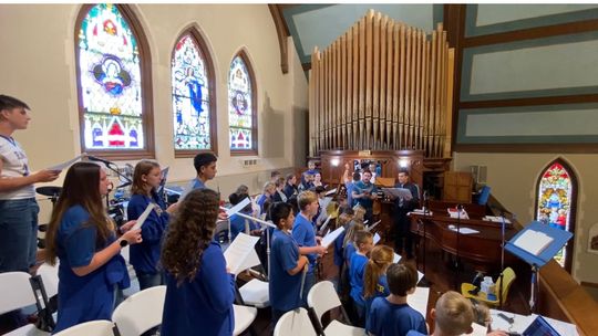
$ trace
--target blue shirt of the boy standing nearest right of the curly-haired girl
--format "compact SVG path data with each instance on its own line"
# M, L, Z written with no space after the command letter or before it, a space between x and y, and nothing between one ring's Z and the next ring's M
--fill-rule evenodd
M288 312L301 306L302 272L290 275L297 267L299 246L291 234L276 229L270 254L270 304L274 309Z

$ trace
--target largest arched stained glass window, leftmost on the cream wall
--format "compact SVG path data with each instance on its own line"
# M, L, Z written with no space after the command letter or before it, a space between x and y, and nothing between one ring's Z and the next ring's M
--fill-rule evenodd
M125 18L126 17L126 18ZM76 25L82 150L112 157L153 156L148 60L126 7L84 6ZM143 40L143 36L142 36ZM145 45L145 42L143 42ZM133 156L126 155L133 153Z

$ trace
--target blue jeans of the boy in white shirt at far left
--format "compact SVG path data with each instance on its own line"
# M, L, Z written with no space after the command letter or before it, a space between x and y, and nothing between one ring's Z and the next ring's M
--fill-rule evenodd
M39 212L34 198L0 200L0 273L35 264Z

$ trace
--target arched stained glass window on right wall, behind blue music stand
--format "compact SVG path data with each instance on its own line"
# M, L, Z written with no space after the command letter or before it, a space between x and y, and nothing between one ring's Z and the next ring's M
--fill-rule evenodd
M537 185L536 220L575 233L577 180L567 164L557 159L542 172ZM569 240L555 260L570 271L574 239Z

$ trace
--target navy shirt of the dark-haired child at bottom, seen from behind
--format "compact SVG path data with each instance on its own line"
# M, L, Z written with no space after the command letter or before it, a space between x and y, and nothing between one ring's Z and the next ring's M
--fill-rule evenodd
M409 330L427 335L425 318L408 304L392 304L384 297L377 297L370 309L368 332L377 336L404 336Z

